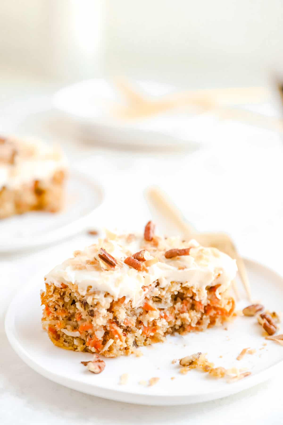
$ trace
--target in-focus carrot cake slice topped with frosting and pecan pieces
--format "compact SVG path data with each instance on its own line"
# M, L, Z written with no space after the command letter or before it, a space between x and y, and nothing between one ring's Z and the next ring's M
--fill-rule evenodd
M234 310L235 260L196 241L106 233L45 276L42 324L59 347L106 357L203 331Z

